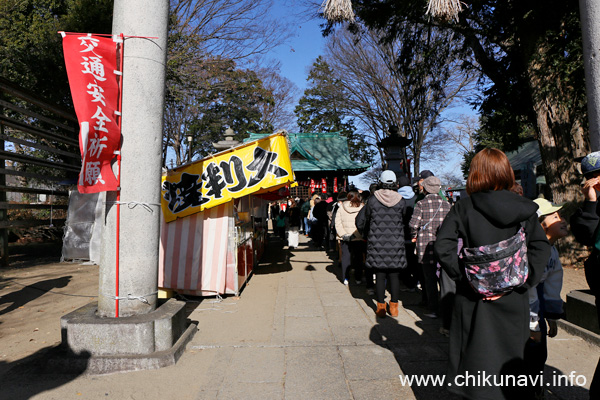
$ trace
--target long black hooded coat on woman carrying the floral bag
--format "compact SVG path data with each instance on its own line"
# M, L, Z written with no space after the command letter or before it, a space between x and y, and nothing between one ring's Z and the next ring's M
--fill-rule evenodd
M434 252L442 268L456 283L456 297L450 328L448 390L469 399L522 398L507 393L511 388L471 385L458 387L457 375L525 374L525 343L529 338L529 296L527 289L542 277L550 258L546 239L531 200L501 190L474 193L452 207L440 227ZM513 236L525 221L529 276L523 287L494 301L483 301L469 285L457 255L458 239L465 247L496 243ZM499 378L497 378L499 379ZM519 390L522 388L516 388Z

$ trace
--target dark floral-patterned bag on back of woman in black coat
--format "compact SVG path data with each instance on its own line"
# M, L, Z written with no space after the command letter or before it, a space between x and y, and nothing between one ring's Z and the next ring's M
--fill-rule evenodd
M529 276L525 222L512 237L485 246L463 247L461 259L469 283L484 297L492 297L521 286Z

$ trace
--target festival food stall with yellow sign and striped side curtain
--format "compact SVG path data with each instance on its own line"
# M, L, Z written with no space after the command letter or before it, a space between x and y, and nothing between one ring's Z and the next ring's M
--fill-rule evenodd
M268 199L293 182L283 133L169 170L158 286L197 296L239 294L264 251Z

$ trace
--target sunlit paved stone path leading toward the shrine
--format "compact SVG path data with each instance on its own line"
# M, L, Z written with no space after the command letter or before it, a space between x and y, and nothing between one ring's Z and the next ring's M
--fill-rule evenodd
M198 332L177 365L105 376L22 368L0 375L0 398L455 399L399 378L446 369L448 339L414 305L420 294L404 292L397 318L376 319L364 286L346 287L338 275L306 238L294 250L273 238L241 297L189 299ZM587 384L549 388L547 398L587 399L598 348L560 332L549 353L548 381L576 371Z

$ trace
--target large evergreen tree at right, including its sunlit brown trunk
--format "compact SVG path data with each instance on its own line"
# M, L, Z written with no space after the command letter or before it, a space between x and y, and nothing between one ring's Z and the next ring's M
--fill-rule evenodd
M577 156L589 149L576 0L466 1L457 20L432 20L423 0L354 0L359 21L397 37L405 21L454 32L482 72L479 102L488 132L505 150L524 133L538 140L553 201L581 197ZM329 26L327 30L331 30ZM491 85L490 85L491 82Z

